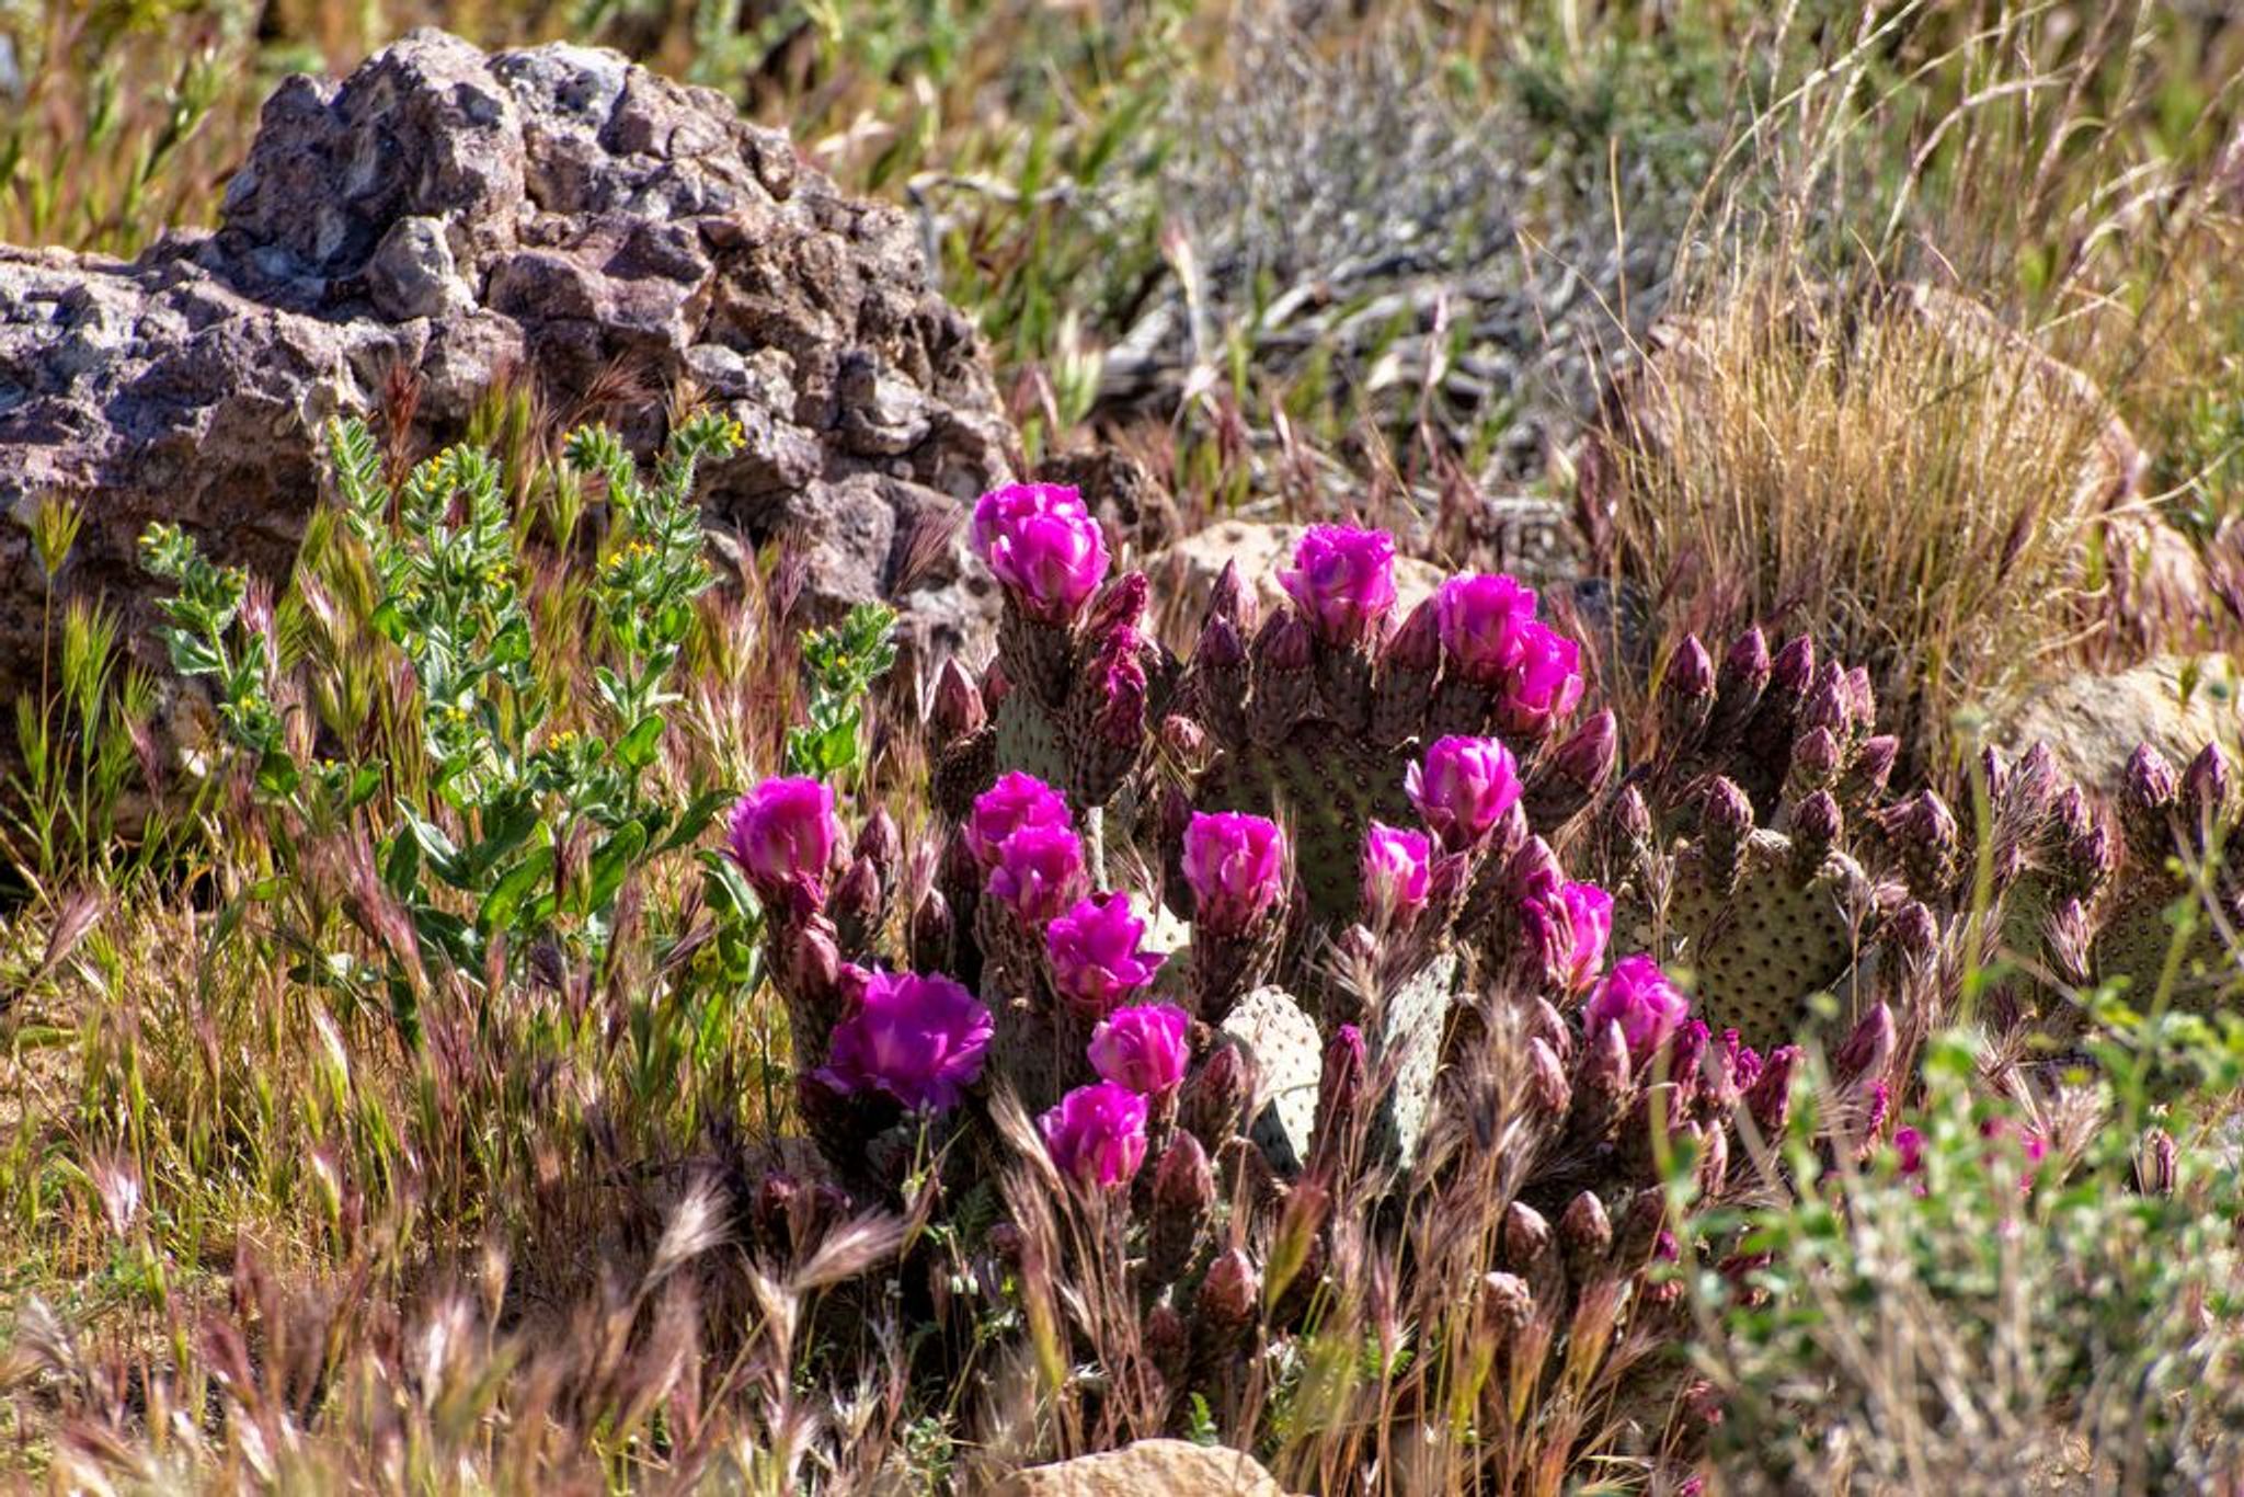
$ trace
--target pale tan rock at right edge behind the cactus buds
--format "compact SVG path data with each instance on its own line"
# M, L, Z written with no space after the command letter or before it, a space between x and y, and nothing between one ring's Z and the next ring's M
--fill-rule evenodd
M2058 768L2096 790L2118 788L2139 743L2150 743L2174 765L2188 763L2215 738L2235 747L2244 734L2235 664L2217 655L2197 660L2183 702L2181 676L2188 667L2188 660L2165 655L2116 676L2069 676L2029 698L2011 718L2006 738L2017 750L2047 743Z

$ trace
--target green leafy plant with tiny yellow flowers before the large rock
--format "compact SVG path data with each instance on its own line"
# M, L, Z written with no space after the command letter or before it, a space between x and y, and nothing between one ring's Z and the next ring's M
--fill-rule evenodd
M626 880L700 837L723 806L711 786L673 799L655 768L693 599L714 581L693 469L738 440L725 417L691 417L653 483L615 433L568 440L570 474L597 480L610 509L581 640L557 637L574 635L574 613L532 606L534 561L487 453L453 447L390 485L361 422L330 429L341 514L377 586L370 624L408 667L411 732L426 763L424 792L399 790L373 808L384 896L417 947L393 949L379 974L408 1030L417 956L476 976L552 943L599 965ZM276 707L283 655L272 608L245 606L242 572L202 559L177 527L150 530L144 557L177 588L162 604L173 667L213 682L224 736L254 765L267 803L310 826L368 808L381 763L312 759L292 745ZM577 702L539 660L586 651L592 700Z

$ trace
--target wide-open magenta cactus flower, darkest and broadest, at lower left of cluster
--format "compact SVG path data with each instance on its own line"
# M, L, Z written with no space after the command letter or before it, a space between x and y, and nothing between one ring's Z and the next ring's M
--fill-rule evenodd
M817 1080L842 1093L877 1091L911 1111L958 1106L990 1050L990 1010L942 974L875 972Z

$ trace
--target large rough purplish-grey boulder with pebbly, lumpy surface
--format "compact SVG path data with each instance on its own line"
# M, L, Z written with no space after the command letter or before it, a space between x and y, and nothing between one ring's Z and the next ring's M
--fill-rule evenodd
M150 521L285 575L323 422L377 408L399 373L424 449L509 375L649 449L660 395L592 395L619 373L691 382L749 435L705 483L711 523L790 539L810 617L889 597L942 649L996 613L958 536L1014 435L909 220L619 54L415 31L343 83L283 83L215 231L132 263L0 247L0 509L18 518L0 525L0 694L38 671L43 494L85 509L58 586L146 624Z

